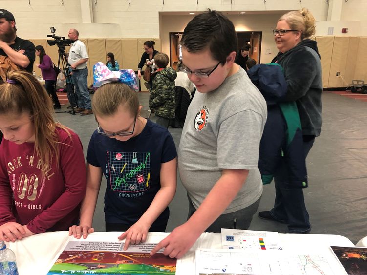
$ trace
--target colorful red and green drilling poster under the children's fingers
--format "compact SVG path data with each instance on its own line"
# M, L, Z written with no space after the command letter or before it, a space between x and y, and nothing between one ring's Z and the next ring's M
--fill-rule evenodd
M176 259L149 253L155 243L69 241L47 275L175 275Z

